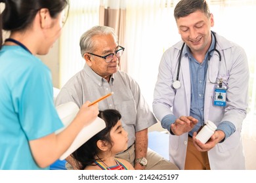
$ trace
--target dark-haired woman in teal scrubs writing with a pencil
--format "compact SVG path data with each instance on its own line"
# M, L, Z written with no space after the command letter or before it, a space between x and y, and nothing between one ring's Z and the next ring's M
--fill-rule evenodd
M35 55L47 54L60 36L68 0L0 3L5 3L0 27L11 31L0 44L0 169L49 169L98 115L98 105L88 107L87 101L72 124L54 133L63 125L51 73Z

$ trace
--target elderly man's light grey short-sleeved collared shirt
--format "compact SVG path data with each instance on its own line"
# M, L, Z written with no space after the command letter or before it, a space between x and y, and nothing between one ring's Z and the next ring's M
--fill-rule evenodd
M56 97L55 105L74 101L81 107L86 101L114 92L98 103L99 110L114 108L121 114L121 122L128 133L128 146L135 142L135 133L156 124L156 118L140 93L137 82L131 76L117 71L110 82L97 75L85 63L85 67L63 86Z

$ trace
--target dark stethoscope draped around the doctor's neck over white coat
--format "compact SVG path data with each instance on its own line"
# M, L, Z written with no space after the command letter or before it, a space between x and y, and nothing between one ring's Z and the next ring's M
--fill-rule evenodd
M213 33L213 31L211 31L211 33L215 39L215 43L214 43L214 48L208 52L207 59L209 61L211 59L211 52L216 51L219 54L219 61L221 61L221 53L219 52L219 50L216 49L217 39L216 39L215 33ZM177 69L177 76L176 76L176 80L173 82L173 88L176 90L181 88L181 82L179 81L179 73L180 73L180 69L181 69L181 54L182 54L184 46L185 46L185 42L183 42L182 47L181 47L181 52L179 55L178 69Z

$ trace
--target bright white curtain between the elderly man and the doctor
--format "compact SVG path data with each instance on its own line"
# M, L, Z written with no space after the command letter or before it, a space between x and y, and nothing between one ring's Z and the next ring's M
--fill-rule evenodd
M127 1L127 73L139 83L150 108L161 55L179 40L171 5L166 0Z

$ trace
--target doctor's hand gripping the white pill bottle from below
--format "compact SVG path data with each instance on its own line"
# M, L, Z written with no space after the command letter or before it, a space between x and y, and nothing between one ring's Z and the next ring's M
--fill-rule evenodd
M215 133L213 133L213 135L211 135L211 138L209 139L209 141L207 141L205 144L203 144L201 141L196 139L196 135L197 135L197 133L194 132L192 139L193 139L194 146L200 152L205 152L205 151L211 150L216 144L218 144L225 138L224 132L221 130L217 130L217 131L215 131Z

